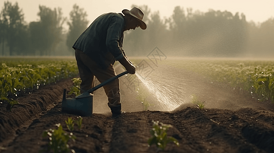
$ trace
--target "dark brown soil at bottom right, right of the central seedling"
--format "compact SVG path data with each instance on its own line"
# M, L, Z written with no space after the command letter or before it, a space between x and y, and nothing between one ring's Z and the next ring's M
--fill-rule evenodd
M185 149L191 147L198 152L271 152L273 128L239 111L200 111L195 107L187 107L170 115L187 140ZM263 118L262 114L259 116Z

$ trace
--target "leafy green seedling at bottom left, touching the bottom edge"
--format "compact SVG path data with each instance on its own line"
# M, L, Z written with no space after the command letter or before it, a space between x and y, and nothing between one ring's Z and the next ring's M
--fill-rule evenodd
M75 152L73 149L69 149L69 145L67 143L70 139L75 141L76 137L72 133L67 134L63 131L60 123L56 124L56 126L58 127L57 130L50 129L44 131L43 133L43 137L49 136L49 148L52 149L54 153L70 151Z

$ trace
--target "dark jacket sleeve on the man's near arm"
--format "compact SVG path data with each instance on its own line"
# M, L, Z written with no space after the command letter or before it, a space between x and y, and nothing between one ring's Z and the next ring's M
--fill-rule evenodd
M106 45L116 61L123 57L123 50L119 45L119 39L123 33L123 26L123 19L112 17L107 31Z

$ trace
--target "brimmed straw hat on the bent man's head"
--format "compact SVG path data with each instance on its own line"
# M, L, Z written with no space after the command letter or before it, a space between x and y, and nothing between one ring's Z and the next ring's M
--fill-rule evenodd
M144 21L142 21L144 14L143 14L143 12L142 12L139 8L134 7L134 8L132 8L131 10L124 9L124 10L122 10L122 13L123 13L124 15L125 15L125 14L129 14L129 15L135 17L135 18L141 23L141 24L139 25L140 28L141 28L142 30L145 30L145 29L146 29L146 24L144 23Z

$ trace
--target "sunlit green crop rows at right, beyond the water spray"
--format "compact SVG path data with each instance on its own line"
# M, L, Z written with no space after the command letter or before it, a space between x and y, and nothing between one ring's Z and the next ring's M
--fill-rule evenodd
M250 92L261 101L274 103L274 61L235 59L174 60L173 66L207 75L210 79L228 83ZM178 64L179 63L179 64Z

